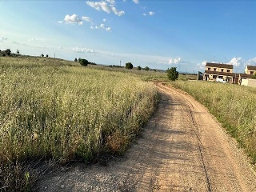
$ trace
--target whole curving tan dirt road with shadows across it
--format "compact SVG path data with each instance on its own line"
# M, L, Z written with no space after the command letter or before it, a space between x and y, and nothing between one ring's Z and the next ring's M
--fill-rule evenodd
M157 83L158 111L126 157L78 165L40 183L41 191L256 191L256 174L204 106Z

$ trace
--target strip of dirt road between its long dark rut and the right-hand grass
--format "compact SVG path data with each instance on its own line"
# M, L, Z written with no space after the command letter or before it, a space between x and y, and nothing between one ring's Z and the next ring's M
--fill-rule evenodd
M256 177L246 155L204 106L190 95L158 83L172 97L182 97L190 107L194 133L202 145L202 159L213 191L256 191Z

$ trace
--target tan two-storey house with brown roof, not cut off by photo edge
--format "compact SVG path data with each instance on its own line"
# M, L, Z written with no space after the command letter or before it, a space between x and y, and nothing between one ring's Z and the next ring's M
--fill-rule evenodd
M206 62L203 80L216 82L222 79L222 82L238 83L239 74L233 73L233 65Z

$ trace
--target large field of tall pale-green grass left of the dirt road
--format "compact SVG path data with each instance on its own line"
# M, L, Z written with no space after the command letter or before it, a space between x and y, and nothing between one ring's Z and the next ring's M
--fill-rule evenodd
M42 159L91 162L123 154L158 100L142 73L1 57L0 191L30 191L42 174L33 165Z

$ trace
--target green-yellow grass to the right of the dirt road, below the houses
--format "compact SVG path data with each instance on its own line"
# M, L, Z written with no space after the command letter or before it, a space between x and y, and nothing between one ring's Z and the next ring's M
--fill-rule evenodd
M256 163L256 89L203 81L171 84L202 102Z

